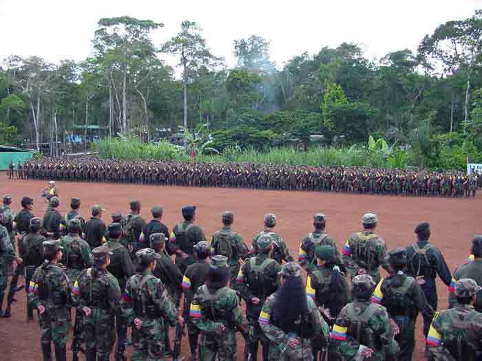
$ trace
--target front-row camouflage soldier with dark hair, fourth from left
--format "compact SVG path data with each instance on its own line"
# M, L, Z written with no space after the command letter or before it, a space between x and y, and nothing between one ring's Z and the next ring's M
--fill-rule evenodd
M198 288L189 307L189 318L202 334L200 360L235 360L236 329L245 330L246 319L238 296L229 288L227 257L213 256L207 281Z

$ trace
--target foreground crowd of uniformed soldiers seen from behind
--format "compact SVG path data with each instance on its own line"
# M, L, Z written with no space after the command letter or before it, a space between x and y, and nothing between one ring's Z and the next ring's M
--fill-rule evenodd
M388 250L374 213L342 245L329 234L329 216L317 213L293 257L271 213L248 246L232 211L208 241L195 206L182 208L172 230L160 206L146 222L138 200L110 220L92 206L86 221L81 199L61 215L49 189L42 219L30 197L16 213L5 195L0 210L1 316L11 317L24 275L26 320L36 311L45 361L52 344L56 360L66 360L71 325L74 360L83 352L107 361L112 351L125 360L128 344L132 360L178 360L185 327L191 361L235 360L242 338L244 360L411 360L419 314L429 360L481 359L482 236L451 274L428 223L414 225L412 244ZM439 312L437 276L450 303Z

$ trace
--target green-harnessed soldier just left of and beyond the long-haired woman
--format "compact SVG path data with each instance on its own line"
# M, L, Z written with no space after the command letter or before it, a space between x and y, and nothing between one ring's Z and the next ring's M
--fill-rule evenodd
M272 248L273 240L269 234L262 235L258 239L258 255L249 258L235 278L234 288L246 302L251 361L258 357L258 342L262 344L263 360L268 360L269 340L261 331L258 317L266 298L276 292L277 274L281 270L280 263L269 257Z

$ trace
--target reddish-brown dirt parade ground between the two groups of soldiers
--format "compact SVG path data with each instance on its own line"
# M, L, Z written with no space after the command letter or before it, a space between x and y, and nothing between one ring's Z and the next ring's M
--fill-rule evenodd
M21 197L29 195L34 199L34 215L43 215L46 205L40 195L47 182L10 181L3 174L0 175L0 184L2 195L12 195L12 208L16 212L20 210ZM220 228L221 212L233 210L233 230L240 232L249 245L253 235L263 229L264 214L273 212L277 217L275 232L284 238L295 259L300 241L311 231L315 212L326 214L326 230L334 237L339 250L351 232L361 230L364 212L377 214L377 233L385 239L390 249L415 241L413 229L418 223L428 221L432 231L430 241L440 248L452 272L467 259L474 234L482 234L480 195L475 199L443 199L134 184L57 182L56 186L61 199L59 210L63 215L69 210L70 197L79 197L82 202L81 215L89 219L90 206L101 204L106 209L103 215L105 223L109 222L110 214L114 211L121 210L123 215L127 214L129 199L137 198L142 204L141 215L147 220L150 219L152 206L163 206L163 222L171 230L182 219L182 206L195 205L196 223L207 237L211 237ZM441 309L447 307L447 298L447 287L439 282ZM39 325L37 322L27 324L25 321L25 292L19 292L17 300L12 305L12 318L0 318L0 360L41 360ZM416 335L417 350L413 359L421 360L421 317L417 323ZM172 340L174 335L171 336L171 342ZM239 337L238 360L242 359L243 346ZM187 357L188 348L185 338L182 341L182 354ZM129 353L130 349L128 347ZM69 352L67 359L71 358Z

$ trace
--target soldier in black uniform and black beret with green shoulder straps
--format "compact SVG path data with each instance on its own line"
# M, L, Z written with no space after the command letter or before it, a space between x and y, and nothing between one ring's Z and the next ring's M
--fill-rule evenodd
M452 276L440 250L430 244L430 224L420 223L415 227L417 242L407 247L407 274L417 279L423 294L434 310L437 310L437 274L446 285L450 285ZM431 318L423 316L423 335L427 337Z

